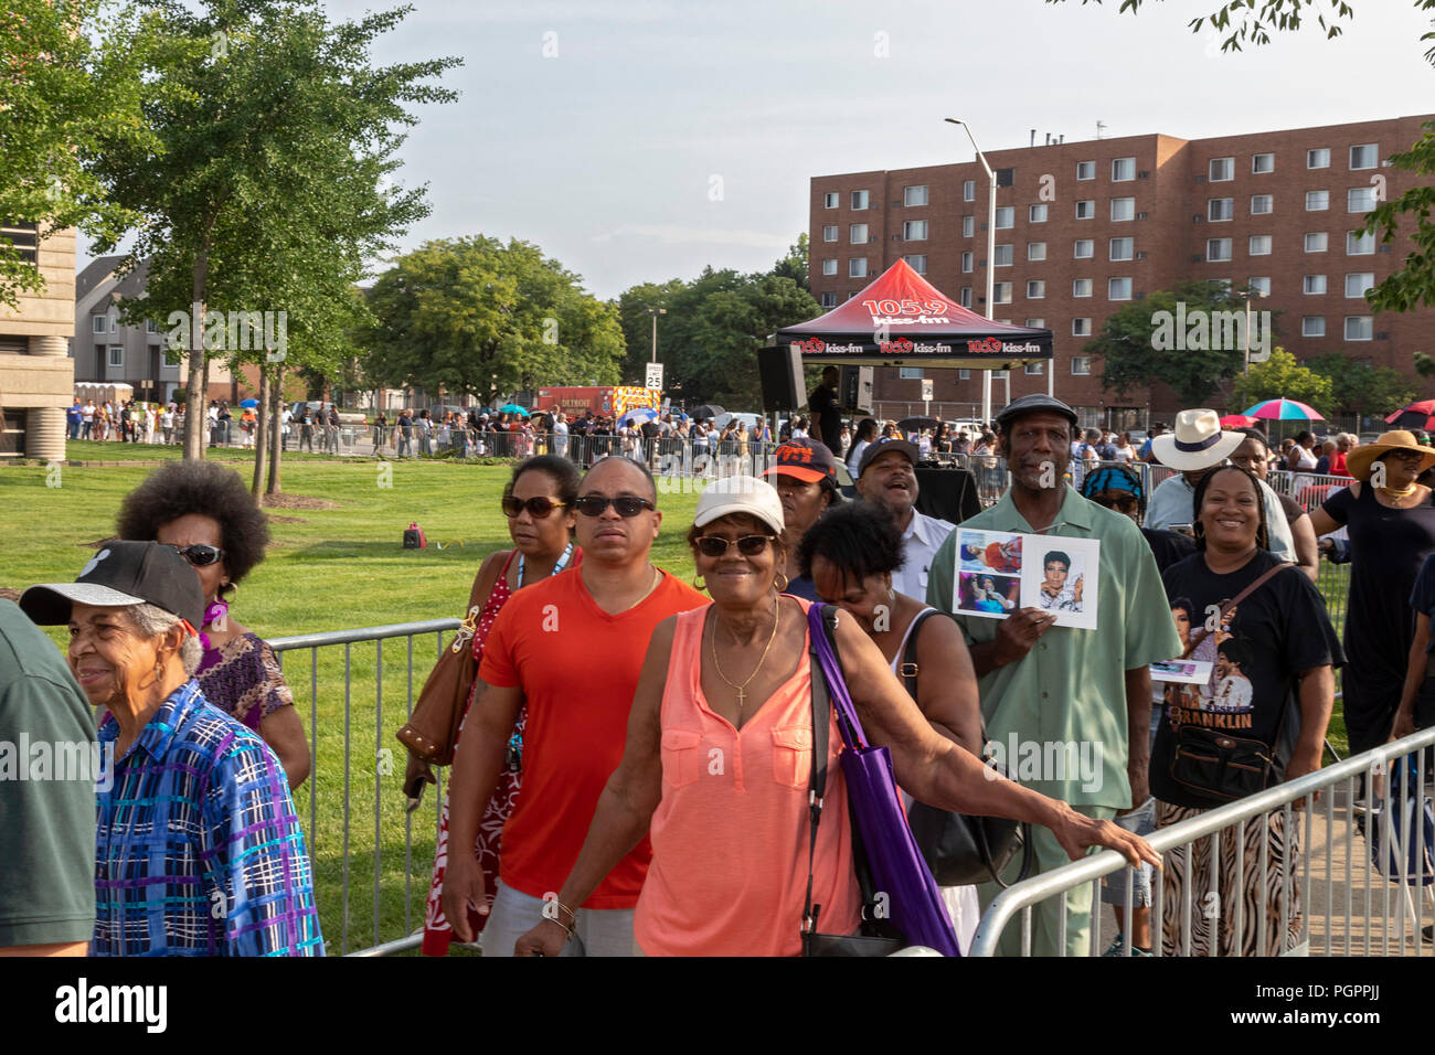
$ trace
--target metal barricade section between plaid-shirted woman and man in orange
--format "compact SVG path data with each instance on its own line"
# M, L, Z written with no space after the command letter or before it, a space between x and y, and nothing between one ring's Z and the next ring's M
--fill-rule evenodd
M309 698L310 777L294 792L294 808L307 825L331 953L350 955L360 943L353 955L403 952L422 940L415 930L423 923L445 779L435 771L432 802L409 812L408 756L393 733L413 712L416 686L423 688L445 632L458 626L456 619L432 619L270 640L296 706L303 709ZM372 817L360 805L370 792ZM372 887L372 904L356 894L364 887Z

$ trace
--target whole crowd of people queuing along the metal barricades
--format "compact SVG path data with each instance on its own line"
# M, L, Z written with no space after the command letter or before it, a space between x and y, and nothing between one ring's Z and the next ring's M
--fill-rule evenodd
M650 438L710 435L670 425ZM814 703L822 607L838 613L827 633L847 690L908 807L1027 821L1038 871L1091 847L1128 858L1135 897L1109 955L1149 955L1155 940L1167 953L1182 940L1198 955L1292 949L1299 884L1277 894L1300 860L1299 824L1273 811L1241 845L1177 848L1159 880L1142 835L1319 769L1337 669L1352 751L1432 721L1435 492L1424 474L1435 451L1408 432L1337 439L1327 468L1350 484L1307 512L1266 482L1290 456L1260 431L1223 429L1214 411L1182 411L1137 451L1129 436L1083 433L1056 399L1015 400L990 444L971 446L1002 456L1010 485L961 527L1050 538L1058 594L1082 590L1065 581L1069 554L1099 544L1083 573L1096 629L1081 629L1059 624L1055 604L959 610L963 533L917 508L923 446L875 421L847 444L827 425L795 419L761 474L703 491L686 531L690 571L650 560L663 511L649 448L558 413L552 449L519 461L499 501L512 547L489 554L471 589L461 644L476 677L455 703L423 950L481 940L486 956L801 955L818 932L862 933L872 904L842 741ZM583 472L557 439L574 435L620 445ZM1147 459L1174 471L1149 494L1134 465ZM1317 541L1340 528L1347 541ZM26 820L6 835L19 853L0 860L32 873L0 883L0 946L323 952L291 800L310 748L273 652L230 614L265 541L232 471L171 464L126 498L118 538L73 583L0 601L0 718L32 736L93 741L88 702L110 752L98 792L22 789ZM1314 586L1322 550L1355 567L1343 642ZM69 627L63 665L39 647L36 624L55 623ZM1152 676L1175 662L1205 676ZM1101 751L1093 772L1015 781L989 765L992 745L1009 742ZM1221 765L1203 761L1213 752ZM405 785L432 779L412 754ZM941 887L961 949L1019 864ZM1266 926L1247 919L1237 933L1221 914L1182 930L1187 883L1254 906L1257 876L1270 884ZM1112 877L1104 899L1124 901L1122 890ZM1092 909L1086 884L1039 903L1033 952L1082 952ZM1009 929L1003 952L1020 939Z

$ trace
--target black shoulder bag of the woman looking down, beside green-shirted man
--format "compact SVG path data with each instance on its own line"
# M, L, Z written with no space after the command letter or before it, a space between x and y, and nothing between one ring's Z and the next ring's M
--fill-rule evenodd
M907 634L907 647L903 649L898 673L907 686L913 702L917 700L917 634L928 616L944 613L927 609L913 620L911 632ZM1003 777L1009 777L1004 766L996 765L986 749L986 723L982 726L983 764L990 765ZM954 814L947 810L937 810L926 802L913 802L907 811L907 822L911 834L917 840L927 867L931 868L933 878L944 887L964 887L973 883L993 881L999 886L1010 886L1002 880L1002 870L1022 851L1022 871L1016 877L1020 883L1032 874L1032 825L1025 821L1013 821L1007 817L969 817Z

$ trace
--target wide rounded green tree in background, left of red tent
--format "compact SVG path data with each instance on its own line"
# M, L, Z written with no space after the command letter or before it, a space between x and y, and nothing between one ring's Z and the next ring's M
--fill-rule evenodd
M617 307L580 283L531 243L425 243L369 291L364 373L485 402L540 385L616 385L624 352Z

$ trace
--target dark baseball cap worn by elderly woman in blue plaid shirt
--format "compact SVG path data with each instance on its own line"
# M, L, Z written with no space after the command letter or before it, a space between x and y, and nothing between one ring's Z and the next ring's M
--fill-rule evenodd
M154 604L197 630L204 623L199 577L179 550L159 543L105 543L73 583L42 583L20 594L20 609L39 626L70 622L73 604Z

